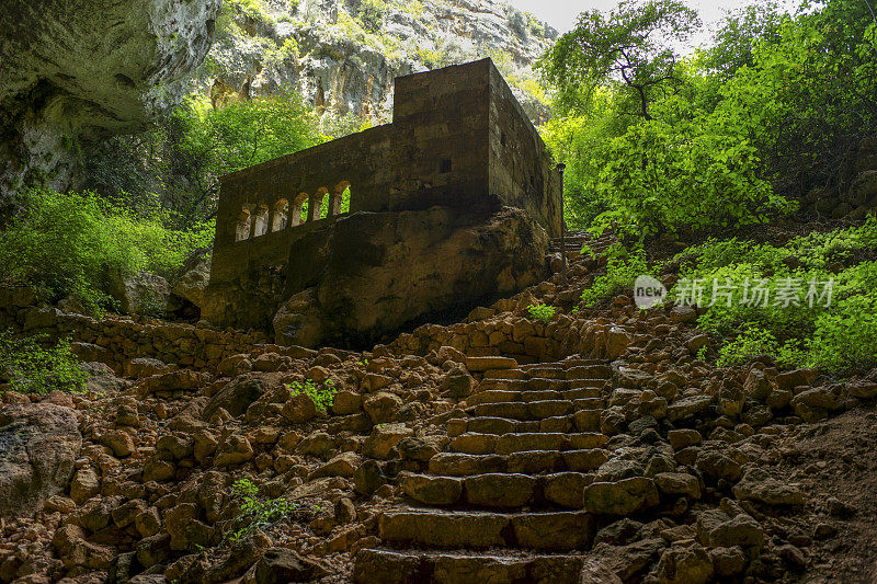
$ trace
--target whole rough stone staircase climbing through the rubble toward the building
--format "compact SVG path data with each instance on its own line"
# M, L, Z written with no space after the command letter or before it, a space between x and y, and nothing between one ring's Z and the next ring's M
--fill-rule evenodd
M407 502L379 516L384 547L357 552L355 582L580 582L595 530L585 473L608 458L600 416L611 369L493 359L510 368L483 373L465 415L447 422L446 451L424 472L399 473Z

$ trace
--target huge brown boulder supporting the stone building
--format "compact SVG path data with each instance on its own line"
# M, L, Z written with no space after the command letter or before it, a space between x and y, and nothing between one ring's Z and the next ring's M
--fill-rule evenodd
M305 346L366 342L522 289L544 276L548 247L545 230L511 207L480 220L441 207L356 214L307 239L300 249L315 253L293 254L289 274L301 279L291 278L295 294L274 318L278 342Z

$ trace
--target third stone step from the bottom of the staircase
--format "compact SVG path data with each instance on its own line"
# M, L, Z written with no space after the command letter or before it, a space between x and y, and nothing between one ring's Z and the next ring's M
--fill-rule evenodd
M488 472L467 477L399 474L402 492L411 500L431 506L472 506L480 508L584 506L584 488L590 474L560 471L532 476L522 472Z

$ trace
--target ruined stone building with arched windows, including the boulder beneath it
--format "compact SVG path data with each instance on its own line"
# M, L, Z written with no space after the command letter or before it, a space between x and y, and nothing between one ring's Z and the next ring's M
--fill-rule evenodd
M220 179L203 318L351 344L544 275L559 176L490 59L395 91L391 124Z

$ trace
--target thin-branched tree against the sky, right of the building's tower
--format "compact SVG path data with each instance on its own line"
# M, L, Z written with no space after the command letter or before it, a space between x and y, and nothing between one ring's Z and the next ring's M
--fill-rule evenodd
M683 43L701 24L697 13L676 0L620 2L608 15L584 12L537 64L557 90L558 105L581 107L594 89L616 87L624 113L652 119L650 104L677 82L673 43Z

